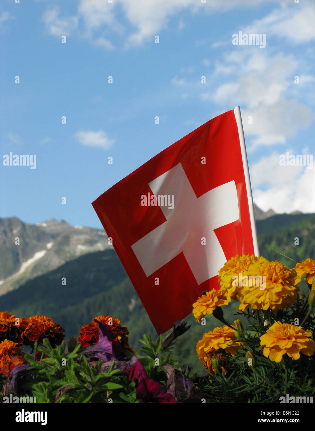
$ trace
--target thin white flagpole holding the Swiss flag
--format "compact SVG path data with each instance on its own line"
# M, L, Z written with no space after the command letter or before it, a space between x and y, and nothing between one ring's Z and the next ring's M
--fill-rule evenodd
M235 106L234 114L235 114L237 128L239 131L239 142L241 144L243 168L244 168L244 175L245 175L245 184L246 184L246 190L247 190L247 199L248 199L248 202L250 202L248 206L249 206L250 222L251 222L251 227L252 227L254 253L255 253L255 256L259 257L260 255L259 255L259 247L258 247L258 239L257 239L257 231L256 231L254 203L253 203L253 197L252 197L252 187L250 184L248 161L247 161L246 146L245 146L245 137L244 137L242 117L241 117L241 110L239 109L239 106Z

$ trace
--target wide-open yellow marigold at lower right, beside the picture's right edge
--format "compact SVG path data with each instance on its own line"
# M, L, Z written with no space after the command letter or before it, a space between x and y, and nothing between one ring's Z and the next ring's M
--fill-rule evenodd
M264 356L271 361L280 362L287 353L290 358L299 359L300 352L312 356L315 350L315 341L310 337L311 331L304 331L301 326L290 323L274 323L267 333L260 337L260 349L264 347Z

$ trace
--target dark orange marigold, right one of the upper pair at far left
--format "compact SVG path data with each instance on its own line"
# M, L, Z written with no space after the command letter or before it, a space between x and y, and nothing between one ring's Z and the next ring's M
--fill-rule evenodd
M52 319L47 316L31 316L27 320L27 327L22 333L23 344L25 346L33 346L35 341L40 344L44 338L50 342L53 349L61 344L64 329L56 324Z

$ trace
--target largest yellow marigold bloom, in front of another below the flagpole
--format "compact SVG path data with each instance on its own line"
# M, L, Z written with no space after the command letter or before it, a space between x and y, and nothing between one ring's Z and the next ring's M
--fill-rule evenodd
M249 265L246 272L248 283L238 288L237 299L243 304L250 304L253 309L267 310L269 307L275 311L290 307L296 301L301 278L295 269L289 269L277 260L269 262L260 257ZM251 279L252 277L252 279ZM255 278L264 280L264 289Z

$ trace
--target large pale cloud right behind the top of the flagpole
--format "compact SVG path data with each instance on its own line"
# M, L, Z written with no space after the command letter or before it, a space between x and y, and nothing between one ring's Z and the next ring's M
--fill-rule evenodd
M258 145L284 144L315 119L312 109L288 97L297 85L294 75L298 62L292 55L278 53L270 57L266 52L243 50L239 56L230 53L223 58L219 68L236 66L235 82L222 84L216 91L202 94L201 99L241 106L245 135L253 137L249 151ZM302 81L312 81L307 76ZM248 117L252 117L252 123Z

